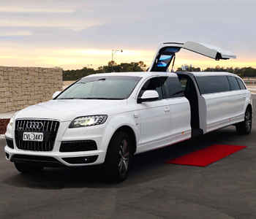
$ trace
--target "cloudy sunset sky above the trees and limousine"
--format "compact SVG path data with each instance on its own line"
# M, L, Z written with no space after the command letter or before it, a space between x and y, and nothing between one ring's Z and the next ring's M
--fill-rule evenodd
M255 22L255 0L0 0L0 66L97 69L119 50L117 64L149 67L162 42L195 41L237 58L181 50L174 69L256 68Z

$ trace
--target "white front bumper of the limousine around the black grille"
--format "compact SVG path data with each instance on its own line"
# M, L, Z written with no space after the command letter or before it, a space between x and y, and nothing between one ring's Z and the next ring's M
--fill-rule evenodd
M110 137L112 137L114 131L113 127L104 123L99 126L85 128L68 128L69 123L60 123L54 147L51 151L18 149L15 142L15 128L8 125L5 137L9 139L9 142L13 139L13 145L12 148L8 145L4 147L7 160L39 166L91 166L104 163L108 142L110 142ZM61 142L88 141L96 142L97 148L83 151L73 151L75 149L72 149L63 152L61 150Z

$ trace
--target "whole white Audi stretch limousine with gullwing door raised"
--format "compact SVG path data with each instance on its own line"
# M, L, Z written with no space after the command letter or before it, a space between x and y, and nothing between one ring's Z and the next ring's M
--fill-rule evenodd
M148 72L83 77L52 100L13 115L5 134L7 160L22 173L102 164L108 180L121 182L132 155L230 125L249 134L252 98L241 78L227 72L166 72L181 48L236 58L212 45L165 43Z

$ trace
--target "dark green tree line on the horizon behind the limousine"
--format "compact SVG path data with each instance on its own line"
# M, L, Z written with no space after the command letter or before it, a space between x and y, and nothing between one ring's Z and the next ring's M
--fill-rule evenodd
M96 70L93 68L83 67L83 69L77 70L66 70L62 73L63 80L78 80L81 77L86 77L89 74L98 73L108 73L108 72L146 72L146 64L143 61L131 62L131 63L121 63L116 64L115 61L109 61L107 66L99 66ZM230 72L233 74L238 74L240 77L256 77L256 69L252 67L243 68L233 68L233 67L220 67L215 66L215 68L206 68L202 70L203 72ZM182 70L178 68L176 72L201 72L199 67L195 68L189 66L187 70Z

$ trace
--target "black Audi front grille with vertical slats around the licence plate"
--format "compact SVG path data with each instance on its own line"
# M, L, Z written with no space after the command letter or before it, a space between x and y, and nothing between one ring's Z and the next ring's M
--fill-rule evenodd
M55 120L16 120L16 147L20 150L52 151L58 128L59 121ZM42 142L23 141L25 131L43 133Z

